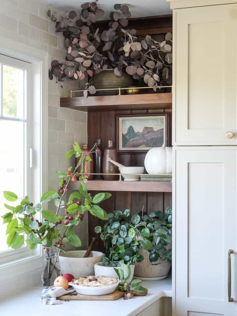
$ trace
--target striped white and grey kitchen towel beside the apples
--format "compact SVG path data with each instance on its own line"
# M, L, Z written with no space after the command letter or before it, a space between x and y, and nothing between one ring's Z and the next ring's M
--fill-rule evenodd
M40 296L40 301L44 305L62 304L63 301L57 300L57 297L72 292L75 292L73 288L65 290L61 286L51 286L47 289L43 289Z

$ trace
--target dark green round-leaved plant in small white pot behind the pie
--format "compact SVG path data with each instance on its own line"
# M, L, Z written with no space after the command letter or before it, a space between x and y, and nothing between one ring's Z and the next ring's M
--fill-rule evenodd
M139 254L139 242L135 240L135 233L131 234L131 211L124 212L116 210L108 214L108 220L104 225L103 231L100 226L95 227L95 232L100 234L106 247L106 257L101 263L95 264L95 273L97 275L115 276L113 267L118 267L121 260L131 267L131 282L136 262L143 260L143 255ZM131 280L130 280L131 279ZM128 282L128 283L129 283Z

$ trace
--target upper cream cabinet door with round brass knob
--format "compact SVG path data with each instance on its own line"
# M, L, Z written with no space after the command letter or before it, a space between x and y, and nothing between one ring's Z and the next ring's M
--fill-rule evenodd
M172 3L186 7L173 10L173 145L237 145L237 3L229 2Z

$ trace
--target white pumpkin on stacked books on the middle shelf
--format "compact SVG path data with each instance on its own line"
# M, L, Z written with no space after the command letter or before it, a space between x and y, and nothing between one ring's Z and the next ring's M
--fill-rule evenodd
M148 173L172 174L172 147L154 147L145 157L145 167Z

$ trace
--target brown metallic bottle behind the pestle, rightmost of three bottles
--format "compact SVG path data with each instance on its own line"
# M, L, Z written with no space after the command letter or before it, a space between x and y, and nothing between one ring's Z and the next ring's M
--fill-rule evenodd
M119 173L119 168L108 161L111 158L114 161L119 161L117 150L113 147L113 141L108 140L108 147L105 149L103 157L103 173ZM104 175L105 180L117 180L116 175Z

